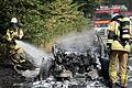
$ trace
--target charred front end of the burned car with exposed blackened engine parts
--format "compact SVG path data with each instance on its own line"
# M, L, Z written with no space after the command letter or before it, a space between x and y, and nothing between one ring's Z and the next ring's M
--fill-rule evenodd
M90 48L80 53L55 47L53 47L55 59L52 70L55 77L76 77L80 75L94 79L90 77L89 72L99 69L100 64L97 62L96 55Z

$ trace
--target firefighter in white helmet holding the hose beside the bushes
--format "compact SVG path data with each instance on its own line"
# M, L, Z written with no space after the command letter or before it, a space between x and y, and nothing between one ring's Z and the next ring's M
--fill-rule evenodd
M15 43L15 40L20 40L22 37L23 31L19 28L18 19L12 18L10 26L3 38L7 40L9 54L13 55L12 61L18 64L25 62L23 50Z

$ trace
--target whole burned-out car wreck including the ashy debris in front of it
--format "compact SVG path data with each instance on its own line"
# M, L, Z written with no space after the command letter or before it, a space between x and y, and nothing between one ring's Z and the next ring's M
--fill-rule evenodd
M48 82L44 88L103 88L108 59L101 52L105 48L101 48L103 45L100 45L98 36L92 43L95 46L85 46L81 51L75 51L76 45L74 50L65 50L62 44L54 44L53 58L42 62L40 79L48 80L44 81Z

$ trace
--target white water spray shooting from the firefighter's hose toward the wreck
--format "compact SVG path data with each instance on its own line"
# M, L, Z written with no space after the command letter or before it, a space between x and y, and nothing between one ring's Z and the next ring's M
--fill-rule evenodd
M23 51L28 54L28 58L36 66L40 67L43 57L45 59L47 59L50 57L50 55L47 53L45 53L44 51L41 51L40 48L37 48L36 46L23 42L23 41L15 41L16 44L23 48Z

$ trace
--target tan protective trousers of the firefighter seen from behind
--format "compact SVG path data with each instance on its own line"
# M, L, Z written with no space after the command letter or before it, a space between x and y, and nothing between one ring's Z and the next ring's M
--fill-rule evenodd
M114 84L118 80L117 68L119 67L120 84L121 86L127 87L128 84L127 65L128 65L128 52L111 51L109 63L109 76L112 84Z

